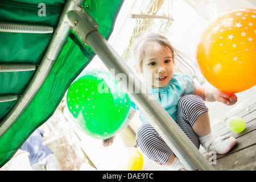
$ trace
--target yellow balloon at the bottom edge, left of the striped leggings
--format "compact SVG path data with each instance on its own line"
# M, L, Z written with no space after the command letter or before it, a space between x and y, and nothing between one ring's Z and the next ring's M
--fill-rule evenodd
M125 154L120 159L120 170L122 171L141 171L143 167L143 156L135 147L126 148Z

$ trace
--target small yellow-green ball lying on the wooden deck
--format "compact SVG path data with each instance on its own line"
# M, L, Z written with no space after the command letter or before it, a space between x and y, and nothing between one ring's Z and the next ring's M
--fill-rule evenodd
M237 116L234 116L228 120L228 127L235 133L240 133L245 130L245 121Z

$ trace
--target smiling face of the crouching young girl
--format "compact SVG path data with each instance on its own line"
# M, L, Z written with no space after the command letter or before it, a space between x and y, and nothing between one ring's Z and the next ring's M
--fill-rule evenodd
M174 61L170 49L152 42L142 60L142 74L148 88L166 86L174 75Z

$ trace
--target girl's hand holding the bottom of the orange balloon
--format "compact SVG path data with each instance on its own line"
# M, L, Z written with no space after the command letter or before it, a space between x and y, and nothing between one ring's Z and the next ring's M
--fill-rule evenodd
M216 99L216 101L222 102L227 106L234 105L237 102L237 96L235 94L229 96L227 93L217 89L216 93L214 93L214 98Z

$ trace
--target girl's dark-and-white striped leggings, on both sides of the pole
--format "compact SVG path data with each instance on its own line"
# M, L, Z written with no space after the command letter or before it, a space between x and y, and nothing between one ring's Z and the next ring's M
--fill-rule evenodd
M200 147L200 142L192 126L197 117L207 111L208 109L201 97L194 95L181 97L177 105L177 125L179 125L181 130L197 148ZM160 165L164 165L173 153L150 123L145 123L139 127L135 142L149 159L154 160Z

